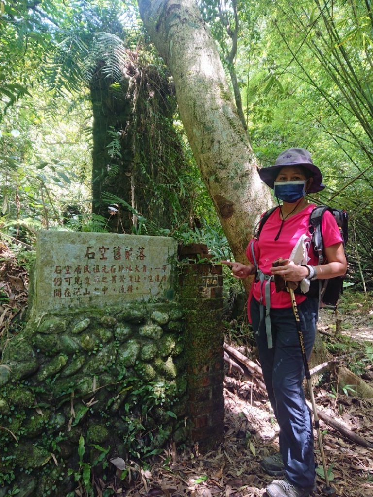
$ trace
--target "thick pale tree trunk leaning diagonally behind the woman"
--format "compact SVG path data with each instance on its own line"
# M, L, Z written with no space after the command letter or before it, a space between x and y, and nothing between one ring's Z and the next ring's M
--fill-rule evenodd
M273 205L237 114L214 40L194 0L138 0L150 37L171 71L180 115L236 260L259 215Z

